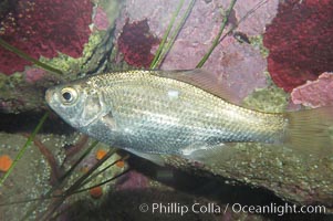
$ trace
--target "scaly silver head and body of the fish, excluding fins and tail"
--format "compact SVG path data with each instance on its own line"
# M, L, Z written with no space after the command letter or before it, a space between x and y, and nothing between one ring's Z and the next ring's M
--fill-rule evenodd
M183 155L226 143L281 143L287 124L283 114L233 105L173 74L129 71L95 75L50 88L46 99L51 97L49 105L81 131L141 152ZM195 78L186 71L175 74ZM63 90L73 91L72 104L64 104Z

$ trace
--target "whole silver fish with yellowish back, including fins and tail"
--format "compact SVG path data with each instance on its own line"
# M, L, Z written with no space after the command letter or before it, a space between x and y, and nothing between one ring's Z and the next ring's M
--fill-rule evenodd
M201 70L107 73L45 94L49 106L74 128L153 161L158 160L152 154L211 157L230 143L332 151L332 107L271 114L237 106L230 97Z

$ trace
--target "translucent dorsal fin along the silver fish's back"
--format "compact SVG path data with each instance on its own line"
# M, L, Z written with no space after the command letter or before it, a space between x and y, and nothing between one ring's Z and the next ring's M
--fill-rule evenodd
M201 69L154 71L153 74L197 86L210 94L221 97L225 101L237 104L238 97L233 95L225 84L222 84L221 78L219 78L218 75Z

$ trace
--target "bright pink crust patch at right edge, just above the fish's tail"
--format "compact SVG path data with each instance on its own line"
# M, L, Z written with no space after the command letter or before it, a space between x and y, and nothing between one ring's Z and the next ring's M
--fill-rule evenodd
M333 73L323 73L316 81L294 88L291 99L294 104L310 107L322 107L333 105Z

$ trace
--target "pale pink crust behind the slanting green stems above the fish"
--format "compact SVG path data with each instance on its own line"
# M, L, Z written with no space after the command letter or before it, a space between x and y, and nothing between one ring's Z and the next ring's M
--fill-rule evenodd
M277 13L278 0L262 2L262 0L250 0L247 3L238 1L232 10L232 19L230 19L232 21L229 22L227 30L231 28L231 24L236 24L248 14L249 17L242 20L237 31L241 31L249 36L262 34L266 25L271 22ZM186 0L184 6L187 7L189 1ZM221 12L229 4L230 0L196 1L160 69L195 69L218 34L223 20ZM259 4L261 7L256 8ZM180 14L184 14L186 7L183 7ZM119 35L123 27L128 25L126 19L129 22L147 19L150 33L162 39L176 8L177 3L175 1L128 0L116 22L116 33ZM179 20L178 18L177 22ZM156 49L157 46L152 48L150 52L146 52L146 54L154 54ZM231 91L238 96L237 102L254 88L267 85L264 74L267 62L260 54L260 50L247 43L241 44L232 36L227 36L216 48L204 69L215 73L220 81L226 82L226 85L231 87Z

